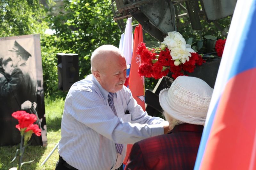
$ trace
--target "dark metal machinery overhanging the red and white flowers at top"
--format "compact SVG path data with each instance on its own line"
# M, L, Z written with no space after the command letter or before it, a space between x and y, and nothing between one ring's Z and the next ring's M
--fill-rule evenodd
M186 7L182 5L184 1ZM146 32L163 41L168 32L176 30L176 20L182 16L177 6L187 10L193 30L201 30L200 16L209 22L230 16L236 0L115 0L115 4L114 20L133 17Z

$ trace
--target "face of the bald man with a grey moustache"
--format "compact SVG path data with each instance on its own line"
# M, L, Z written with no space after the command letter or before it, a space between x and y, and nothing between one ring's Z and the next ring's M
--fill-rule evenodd
M100 72L100 85L108 92L117 92L123 88L126 80L126 61L124 57L116 58Z

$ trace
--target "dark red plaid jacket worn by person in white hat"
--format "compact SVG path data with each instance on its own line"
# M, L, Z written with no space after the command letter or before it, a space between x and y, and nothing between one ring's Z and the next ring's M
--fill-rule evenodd
M132 146L125 170L194 168L202 125L180 124L166 134L141 140Z

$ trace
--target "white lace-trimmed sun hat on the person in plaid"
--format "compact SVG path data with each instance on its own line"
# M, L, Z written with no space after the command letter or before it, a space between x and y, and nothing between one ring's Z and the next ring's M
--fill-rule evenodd
M204 125L213 89L202 79L179 76L159 93L161 107L173 118Z

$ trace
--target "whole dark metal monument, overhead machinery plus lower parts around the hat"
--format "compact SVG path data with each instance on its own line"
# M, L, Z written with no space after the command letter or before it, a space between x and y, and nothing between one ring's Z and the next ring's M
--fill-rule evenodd
M187 12L179 14L178 6ZM114 20L120 29L122 19L133 17L144 31L160 42L164 40L168 32L177 30L177 25L182 24L179 22L182 16L189 17L190 22L185 24L191 24L193 30L202 30L200 22L202 18L208 22L214 22L231 16L235 6L236 0L112 0ZM213 88L219 65L220 59L212 59L211 62L197 67L193 73L187 74L203 79ZM158 102L158 94L161 89L170 87L172 81L171 76L167 75L158 81L153 92L146 90L146 111L149 115L159 115L162 111Z

